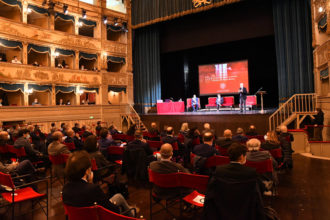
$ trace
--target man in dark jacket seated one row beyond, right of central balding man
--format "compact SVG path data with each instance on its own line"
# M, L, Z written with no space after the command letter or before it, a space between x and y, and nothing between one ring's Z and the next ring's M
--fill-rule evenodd
M200 157L212 157L218 154L218 151L212 146L213 134L206 132L203 136L204 144L196 145L193 149L193 153Z

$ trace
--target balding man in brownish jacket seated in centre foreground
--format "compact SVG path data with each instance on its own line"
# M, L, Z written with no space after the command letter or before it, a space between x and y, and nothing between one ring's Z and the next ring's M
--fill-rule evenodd
M153 172L160 174L169 174L176 172L189 173L182 165L171 161L173 156L173 148L170 144L163 144L160 148L160 161L154 161L150 163L150 169ZM180 196L180 190L177 188L161 188L154 186L153 191L157 197L169 199ZM191 192L190 189L184 190L185 192L181 195L186 195Z

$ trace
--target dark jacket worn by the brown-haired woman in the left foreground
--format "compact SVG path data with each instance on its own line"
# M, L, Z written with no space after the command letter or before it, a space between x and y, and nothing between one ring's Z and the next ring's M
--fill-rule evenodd
M68 182L63 187L63 203L74 207L93 206L94 203L119 213L117 206L109 201L99 185L84 180Z

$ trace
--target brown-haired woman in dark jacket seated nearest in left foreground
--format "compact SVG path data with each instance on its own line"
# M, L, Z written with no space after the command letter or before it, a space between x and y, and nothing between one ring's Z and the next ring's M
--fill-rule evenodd
M107 198L99 185L93 184L92 164L86 151L76 151L68 159L65 167L68 182L63 187L63 203L75 207L93 206L95 203L113 212L127 212L129 206L121 194ZM133 211L128 216L135 217Z

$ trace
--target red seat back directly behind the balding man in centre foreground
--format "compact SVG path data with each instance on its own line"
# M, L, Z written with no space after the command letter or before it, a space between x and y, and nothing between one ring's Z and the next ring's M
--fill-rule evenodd
M149 172L149 182L155 184L156 186L162 188L173 188L180 186L179 173L169 173L169 174L160 174L148 170Z

